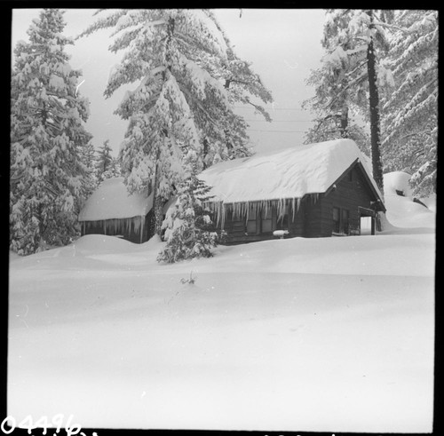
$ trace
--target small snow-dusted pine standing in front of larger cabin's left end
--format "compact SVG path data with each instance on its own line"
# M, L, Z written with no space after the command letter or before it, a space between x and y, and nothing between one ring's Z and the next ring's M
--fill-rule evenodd
M210 200L210 186L197 177L196 155L186 155L189 173L178 186L178 199L167 211L163 221L166 246L157 260L174 263L191 258L210 258L217 246L218 234L212 221L212 212L205 206Z

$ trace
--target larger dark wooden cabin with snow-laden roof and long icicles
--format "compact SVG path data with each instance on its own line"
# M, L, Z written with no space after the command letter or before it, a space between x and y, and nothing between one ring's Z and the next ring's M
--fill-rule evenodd
M375 233L382 195L366 157L351 139L301 145L217 163L200 177L227 243L275 237Z

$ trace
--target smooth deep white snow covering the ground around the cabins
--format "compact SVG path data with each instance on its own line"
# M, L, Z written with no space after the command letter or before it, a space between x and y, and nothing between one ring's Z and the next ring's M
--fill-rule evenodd
M163 242L101 235L12 256L8 415L431 432L435 213L393 183L392 226L376 236L219 247L176 265L155 261Z

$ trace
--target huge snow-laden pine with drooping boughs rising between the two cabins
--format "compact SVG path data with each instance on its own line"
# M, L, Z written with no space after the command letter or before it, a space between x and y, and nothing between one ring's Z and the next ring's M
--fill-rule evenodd
M238 59L208 10L100 14L105 16L83 35L112 28L110 50L123 51L107 83L107 97L123 85L138 83L116 110L129 121L122 170L130 192L154 191L155 232L160 234L163 204L185 177L183 149L194 150L198 171L218 160L248 155L246 123L234 114L233 101L251 92L263 101L271 96L246 66L241 70L247 77L231 80L239 76Z

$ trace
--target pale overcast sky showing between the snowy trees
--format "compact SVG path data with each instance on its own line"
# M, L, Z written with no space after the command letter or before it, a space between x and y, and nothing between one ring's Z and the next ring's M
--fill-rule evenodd
M40 9L14 9L12 12L12 48L17 41L28 41L27 29ZM77 36L95 19L93 9L68 9L65 13L67 36ZM216 15L226 36L234 44L237 55L252 63L263 83L272 91L274 105L268 105L273 123L266 123L252 108L238 107L250 124L249 134L257 151L270 147L289 147L302 143L303 131L311 124L310 115L300 104L313 96L305 85L310 70L319 67L324 11L321 9L218 9ZM83 71L80 91L90 99L91 115L86 128L99 147L105 139L117 155L123 140L126 122L113 112L123 98L125 89L110 99L103 91L111 67L119 59L107 51L109 32L99 32L67 47L71 67Z

